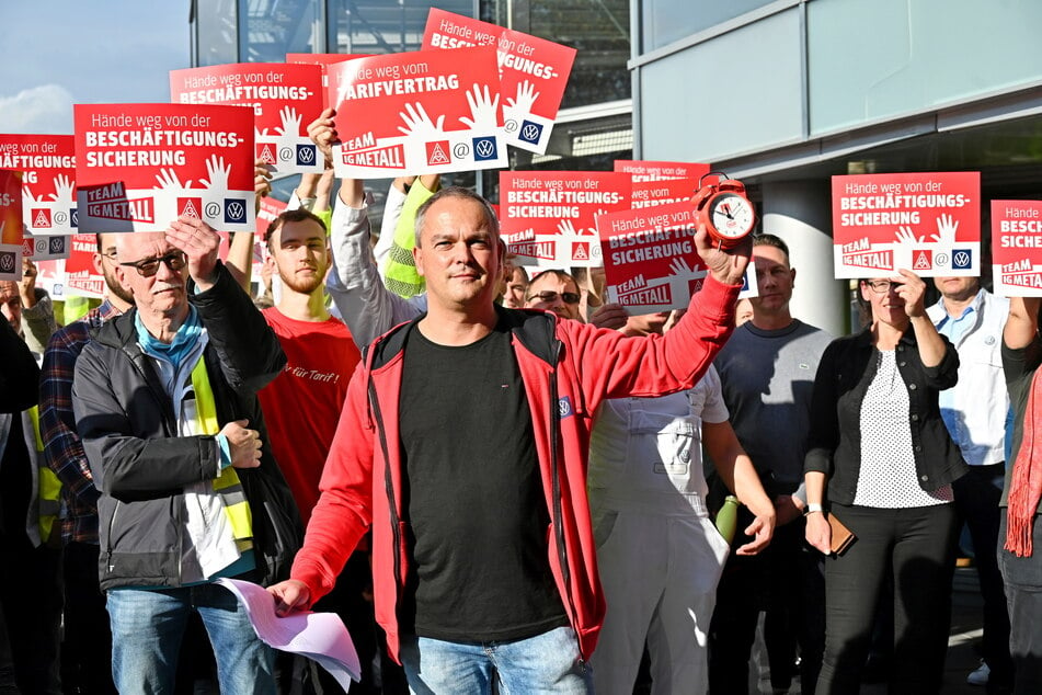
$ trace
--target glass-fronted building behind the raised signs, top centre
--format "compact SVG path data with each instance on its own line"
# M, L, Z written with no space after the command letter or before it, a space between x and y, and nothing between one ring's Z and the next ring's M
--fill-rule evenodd
M432 7L577 49L547 153L512 151L512 168L609 171L614 160L631 158L628 0L195 0L193 65L419 50ZM481 182L455 180L495 198L494 171Z

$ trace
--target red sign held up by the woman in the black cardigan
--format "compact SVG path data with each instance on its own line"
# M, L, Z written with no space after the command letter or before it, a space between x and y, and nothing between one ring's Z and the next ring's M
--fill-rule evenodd
M981 174L833 176L835 274L981 274Z

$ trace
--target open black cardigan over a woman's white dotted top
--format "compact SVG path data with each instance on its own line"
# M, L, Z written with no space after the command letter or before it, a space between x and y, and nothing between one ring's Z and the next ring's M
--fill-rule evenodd
M908 388L908 425L919 487L931 492L969 469L941 419L937 395L959 379L959 354L943 335L944 356L927 367L912 327L897 342L897 372ZM828 478L827 498L851 504L861 470L861 401L878 360L869 329L834 340L822 355L811 401L811 431L803 470Z

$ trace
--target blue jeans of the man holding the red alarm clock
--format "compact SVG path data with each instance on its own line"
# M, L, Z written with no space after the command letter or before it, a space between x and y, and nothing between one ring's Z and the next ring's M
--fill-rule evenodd
M593 672L570 627L508 642L447 642L402 636L399 654L416 695L593 692Z

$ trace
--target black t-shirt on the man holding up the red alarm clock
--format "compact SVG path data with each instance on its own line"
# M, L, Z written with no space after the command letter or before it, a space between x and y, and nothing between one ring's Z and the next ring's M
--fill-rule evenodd
M449 348L414 329L399 418L413 569L403 606L408 613L415 602L416 635L492 641L565 625L509 331L496 327L476 343Z

